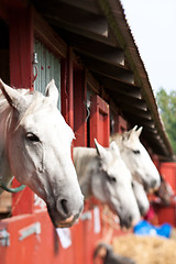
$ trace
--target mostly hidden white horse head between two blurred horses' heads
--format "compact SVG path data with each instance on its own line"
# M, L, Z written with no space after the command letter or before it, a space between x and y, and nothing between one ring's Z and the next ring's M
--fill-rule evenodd
M135 179L132 180L132 187L136 202L139 205L141 216L145 216L150 209L150 201L147 199L147 195L144 190L144 187L141 183L136 182Z

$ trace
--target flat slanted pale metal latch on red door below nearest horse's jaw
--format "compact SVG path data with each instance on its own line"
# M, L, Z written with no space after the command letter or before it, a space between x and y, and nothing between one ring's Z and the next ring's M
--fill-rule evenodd
M40 222L35 222L24 229L21 229L19 231L19 233L21 234L19 240L22 241L24 239L26 239L28 237L30 237L31 234L36 234L38 235L41 233L41 223Z

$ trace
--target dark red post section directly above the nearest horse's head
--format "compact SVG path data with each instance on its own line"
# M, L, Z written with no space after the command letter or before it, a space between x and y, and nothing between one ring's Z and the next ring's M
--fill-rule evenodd
M33 22L31 9L10 12L10 79L19 88L32 88Z

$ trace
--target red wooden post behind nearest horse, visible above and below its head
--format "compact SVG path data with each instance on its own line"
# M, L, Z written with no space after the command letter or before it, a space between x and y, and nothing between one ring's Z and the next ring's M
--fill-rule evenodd
M33 54L33 21L31 9L15 9L10 12L10 80L11 86L33 87L33 67L31 54ZM19 186L16 179L12 187ZM25 194L23 199L21 194ZM28 201L28 202L26 202ZM13 196L13 216L30 213L33 211L34 195L29 188Z

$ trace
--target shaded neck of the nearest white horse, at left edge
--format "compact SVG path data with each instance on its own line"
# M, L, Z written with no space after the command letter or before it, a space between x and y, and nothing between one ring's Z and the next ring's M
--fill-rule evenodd
M2 99L3 100L3 99ZM7 134L9 133L12 111L8 106L2 105L0 101L0 183L8 185L11 179L11 169L8 158L8 150L7 150Z

